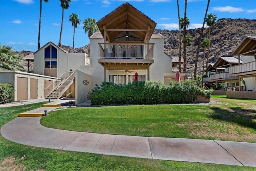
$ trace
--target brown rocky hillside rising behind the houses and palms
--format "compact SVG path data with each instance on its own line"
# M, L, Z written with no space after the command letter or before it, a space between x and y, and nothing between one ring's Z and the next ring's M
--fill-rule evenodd
M162 34L164 38L164 51L169 56L178 56L179 39L178 30L158 30L155 32ZM204 31L204 38L208 38L209 29ZM190 29L187 33L192 37L192 43L187 46L187 71L194 72L194 63L196 56L197 40L200 35L200 29ZM211 28L210 38L210 54L209 61L214 58L228 54L236 49L240 42L246 38L246 36L256 36L256 20L249 19L219 19ZM73 48L70 46L62 46L67 52L73 52ZM76 48L75 52L88 52L88 45L82 48ZM207 52L207 50L206 50ZM22 54L32 53L28 51L22 51ZM200 50L200 57L198 61L198 74L202 72L202 56L203 50Z

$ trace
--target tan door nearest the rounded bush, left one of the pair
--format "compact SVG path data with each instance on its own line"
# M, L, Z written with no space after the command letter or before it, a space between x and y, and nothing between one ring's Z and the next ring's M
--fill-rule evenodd
M28 78L17 77L17 100L28 99Z

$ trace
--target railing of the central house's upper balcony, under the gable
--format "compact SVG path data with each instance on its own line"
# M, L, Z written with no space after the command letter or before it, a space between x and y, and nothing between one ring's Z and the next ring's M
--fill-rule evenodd
M98 43L99 59L153 59L154 44Z

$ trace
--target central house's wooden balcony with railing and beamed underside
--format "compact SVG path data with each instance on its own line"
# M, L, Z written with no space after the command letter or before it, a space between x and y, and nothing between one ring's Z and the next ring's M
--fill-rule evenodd
M154 44L140 43L98 43L102 66L150 66L154 63ZM138 68L138 67L136 67ZM143 67L142 67L143 68Z

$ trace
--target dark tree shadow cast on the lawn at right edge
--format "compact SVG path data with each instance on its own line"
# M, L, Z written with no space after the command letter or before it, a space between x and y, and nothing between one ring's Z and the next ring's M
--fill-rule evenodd
M243 127L250 127L256 130L256 110L242 109L241 107L210 107L214 113L210 116L214 119L237 123Z

